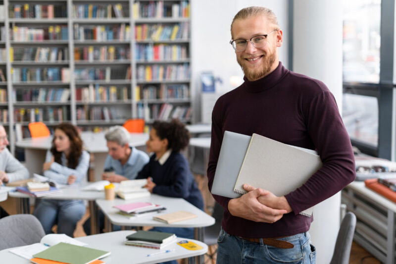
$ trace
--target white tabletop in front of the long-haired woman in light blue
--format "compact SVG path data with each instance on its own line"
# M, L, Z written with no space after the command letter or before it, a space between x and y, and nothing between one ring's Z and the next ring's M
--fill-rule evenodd
M39 197L40 199L58 199L58 200L71 200L71 199L76 199L76 200L87 200L87 201L94 201L97 199L103 199L104 198L104 191L84 191L81 188L86 186L87 184L81 184L80 185L72 185L67 188L62 188L62 192L59 194L54 194L54 195L49 195L49 196L44 196L44 197ZM31 196L21 193L21 192L10 192L8 193L10 197L15 197L15 198L29 198Z

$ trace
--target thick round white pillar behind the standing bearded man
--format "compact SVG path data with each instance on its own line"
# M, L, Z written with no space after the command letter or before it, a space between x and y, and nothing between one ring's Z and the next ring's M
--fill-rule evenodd
M293 71L323 81L342 110L341 0L295 0L293 21ZM340 227L341 194L317 205L309 230L317 249L317 264L333 256Z

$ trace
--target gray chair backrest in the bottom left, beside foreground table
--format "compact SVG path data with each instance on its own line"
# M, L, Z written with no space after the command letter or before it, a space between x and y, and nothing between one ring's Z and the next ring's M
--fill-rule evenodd
M0 219L0 250L40 242L43 226L33 214L13 214Z

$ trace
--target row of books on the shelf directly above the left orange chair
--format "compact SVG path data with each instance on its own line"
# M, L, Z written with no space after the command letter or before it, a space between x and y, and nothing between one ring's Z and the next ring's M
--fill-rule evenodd
M69 112L66 106L16 108L14 110L14 122L63 122L70 120Z

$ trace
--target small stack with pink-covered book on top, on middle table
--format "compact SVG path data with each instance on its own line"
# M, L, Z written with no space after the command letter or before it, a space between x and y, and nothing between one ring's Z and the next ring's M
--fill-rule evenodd
M136 217L147 215L150 212L159 212L165 210L166 208L161 205L156 205L148 202L136 202L132 204L125 204L119 206L113 206L120 210L118 213L128 217Z

